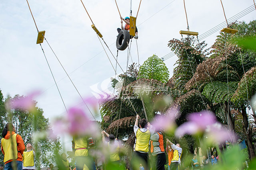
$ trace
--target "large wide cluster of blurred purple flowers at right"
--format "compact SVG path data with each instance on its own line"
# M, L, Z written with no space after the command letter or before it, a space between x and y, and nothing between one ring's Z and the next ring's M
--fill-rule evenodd
M188 122L177 128L175 136L181 137L185 134L194 135L196 133L204 133L208 141L216 143L234 141L235 139L234 133L217 123L216 116L210 111L201 111L188 115Z

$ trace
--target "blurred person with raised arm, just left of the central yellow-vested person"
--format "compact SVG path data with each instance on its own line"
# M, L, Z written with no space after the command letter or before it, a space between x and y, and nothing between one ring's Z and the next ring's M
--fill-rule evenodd
M115 136L113 134L108 134L105 131L102 131L102 141L104 143L108 144L108 148L110 149L110 162L120 162L120 157L119 157L119 143L117 140L115 140ZM109 142L105 141L105 136L106 135L109 138Z

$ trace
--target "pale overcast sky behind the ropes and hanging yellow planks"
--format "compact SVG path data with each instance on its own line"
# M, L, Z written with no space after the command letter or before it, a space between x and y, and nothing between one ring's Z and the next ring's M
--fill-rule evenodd
M91 21L80 0L29 0L30 8L39 31L52 46L80 94L93 96L90 86L114 77L114 70L92 29ZM116 56L116 28L120 27L120 16L114 0L83 0L94 24ZM132 1L132 14L136 16L140 0ZM222 0L226 17L230 18L253 5L253 0ZM130 0L117 0L122 17L129 16ZM186 0L190 31L199 35L225 21L220 0ZM252 11L239 21L256 19ZM180 30L186 30L183 0L142 0L137 18L138 52L140 64L153 54L158 57L170 53L168 41L180 39ZM212 45L219 31L206 37ZM40 48L36 44L37 31L26 0L2 0L0 3L0 89L7 95L26 95L33 90L43 93L36 98L44 116L52 120L65 112L54 80ZM56 60L46 41L42 47L58 82L67 107L80 104L82 100L72 86L64 70ZM104 46L106 47L106 46ZM113 64L112 55L108 55ZM132 60L138 63L136 41L131 45ZM119 51L118 62L125 70L127 49ZM177 58L166 61L170 77ZM129 62L131 64L131 61ZM120 68L118 73L122 73ZM102 86L105 90L108 86ZM88 110L82 104L79 105ZM99 119L100 117L98 117ZM69 137L62 138L68 141Z

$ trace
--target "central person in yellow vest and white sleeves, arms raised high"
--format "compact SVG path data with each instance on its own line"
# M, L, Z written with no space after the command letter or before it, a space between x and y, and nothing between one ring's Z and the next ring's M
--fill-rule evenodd
M150 170L150 162L148 157L149 141L150 137L155 132L155 128L151 126L146 119L141 119L139 122L139 118L140 116L137 115L133 128L136 139L134 144L134 152L132 153L131 167L132 169L137 170L139 169L139 165L142 164L145 170ZM138 122L140 127L138 127Z

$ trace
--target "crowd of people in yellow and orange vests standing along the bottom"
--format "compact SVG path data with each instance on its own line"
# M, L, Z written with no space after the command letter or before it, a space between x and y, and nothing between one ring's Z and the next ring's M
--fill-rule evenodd
M26 148L22 137L15 133L16 129L11 123L7 123L2 132L1 150L4 154L5 170L35 170L35 149L31 143L26 143ZM178 170L181 166L182 147L179 143L176 145L169 139L166 139L166 150L164 149L164 137L160 131L150 125L146 119L140 119L136 116L134 124L135 143L133 147L132 158L130 160L131 170L165 170L166 161L169 170ZM105 136L108 138L105 139ZM102 141L108 148L109 157L102 161L103 166L98 166L99 162L90 151L95 148L92 138L73 137L72 150L75 156L75 167L71 167L65 153L61 154L62 163L58 167L63 170L111 170L114 165L120 165L120 143L113 134L102 131ZM26 151L25 151L26 149ZM166 152L167 156L166 157ZM105 165L104 166L104 162ZM108 164L111 162L111 164ZM153 163L152 163L153 162ZM199 162L196 154L191 160L192 169L199 169ZM211 164L217 164L217 159L212 155ZM209 164L208 158L203 156L202 166ZM48 170L53 170L53 164L49 165ZM0 165L3 169L3 165Z

